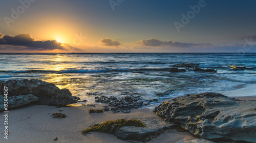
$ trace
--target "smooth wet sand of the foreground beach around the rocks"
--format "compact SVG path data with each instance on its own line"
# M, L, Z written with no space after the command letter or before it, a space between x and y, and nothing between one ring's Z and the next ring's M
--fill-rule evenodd
M100 107L103 106L102 104ZM148 108L134 109L131 113L89 113L89 106L61 107L47 105L31 105L9 111L8 139L1 134L0 142L126 142L108 133L91 133L87 136L81 135L82 129L103 121L127 119L154 119L159 118ZM54 119L52 113L65 113L65 119ZM49 114L50 113L50 114ZM4 124L4 113L0 113L0 123ZM1 125L1 128L3 126ZM2 129L1 129L2 130ZM3 130L1 132L4 132ZM58 137L58 140L54 138ZM150 142L176 142L196 138L188 132L177 132L176 130L165 131L162 135Z

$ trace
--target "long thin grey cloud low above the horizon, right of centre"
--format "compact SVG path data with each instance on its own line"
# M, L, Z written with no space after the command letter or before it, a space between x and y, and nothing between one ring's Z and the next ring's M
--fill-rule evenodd
M160 47L160 46L168 46L168 47L212 47L209 43L202 44L193 44L193 43L181 43L181 42L173 42L173 41L160 41L158 39L151 38L150 40L141 40L135 42L142 46L151 46L151 47Z

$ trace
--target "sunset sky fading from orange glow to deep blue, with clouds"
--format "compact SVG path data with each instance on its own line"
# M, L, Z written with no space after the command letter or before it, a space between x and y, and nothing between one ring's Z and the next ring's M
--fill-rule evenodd
M253 0L0 0L0 52L256 52Z

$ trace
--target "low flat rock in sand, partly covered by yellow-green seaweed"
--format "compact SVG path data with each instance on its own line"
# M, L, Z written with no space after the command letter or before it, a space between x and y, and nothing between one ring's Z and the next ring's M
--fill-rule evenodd
M146 124L146 127L124 126L116 130L114 135L122 140L143 140L145 142L174 126L159 119L141 119L140 121Z

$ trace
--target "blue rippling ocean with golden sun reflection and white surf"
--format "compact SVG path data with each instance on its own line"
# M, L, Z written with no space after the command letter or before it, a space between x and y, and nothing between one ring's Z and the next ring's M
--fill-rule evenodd
M187 62L217 73L169 72L172 65ZM230 64L254 69L233 71ZM0 53L0 80L41 79L88 103L101 95L137 95L150 102L148 107L185 94L253 85L255 69L256 53Z

